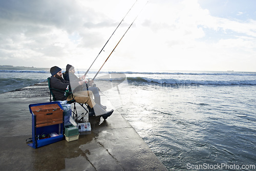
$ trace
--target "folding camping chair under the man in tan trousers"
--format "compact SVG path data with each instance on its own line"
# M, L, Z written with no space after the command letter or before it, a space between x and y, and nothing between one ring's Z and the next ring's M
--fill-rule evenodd
M65 91L61 91L61 90L58 90L58 89L51 88L51 81L50 81L50 79L51 79L50 77L47 78L47 80L48 80L48 87L49 87L49 90L50 90L50 102L51 102L51 101L56 101L56 98L55 98L52 90L56 90L56 91L63 92L63 93L65 93ZM73 98L73 93L71 93L71 94L72 94L72 98ZM74 109L73 109L72 113L73 113L73 118L74 118L74 116L76 116L76 121L77 121L78 115L77 115L77 111L76 111L76 103L78 103L78 102L76 102L76 100L73 98L72 100L67 101L67 103L68 104L72 104L72 103L74 104ZM86 110L86 114L87 114L88 110L86 108L84 108L83 104L81 104L81 103L78 103L78 104L80 104L82 106L82 108L84 110ZM82 120L82 119L83 119L83 117L80 118L80 120Z

